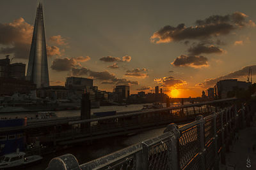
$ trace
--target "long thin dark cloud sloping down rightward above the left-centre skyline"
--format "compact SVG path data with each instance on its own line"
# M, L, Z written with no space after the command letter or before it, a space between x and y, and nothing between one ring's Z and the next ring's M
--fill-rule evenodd
M72 74L74 76L89 76L95 80L102 81L102 84L116 84L116 85L138 85L138 81L130 81L125 78L116 78L115 74L111 74L108 71L92 71L86 67L72 68Z

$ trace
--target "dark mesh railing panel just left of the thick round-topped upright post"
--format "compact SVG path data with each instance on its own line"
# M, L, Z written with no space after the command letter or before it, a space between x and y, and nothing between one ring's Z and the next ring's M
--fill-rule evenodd
M167 139L166 141L161 141L160 143L149 147L148 169L172 169L170 167L172 165L172 162L170 162L172 157L172 151L170 148L171 143L172 141Z

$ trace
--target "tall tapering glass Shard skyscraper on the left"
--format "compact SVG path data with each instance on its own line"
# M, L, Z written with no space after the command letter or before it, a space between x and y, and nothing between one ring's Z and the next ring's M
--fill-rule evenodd
M42 3L36 10L36 20L29 53L27 80L33 81L36 87L49 87L49 73L44 32Z

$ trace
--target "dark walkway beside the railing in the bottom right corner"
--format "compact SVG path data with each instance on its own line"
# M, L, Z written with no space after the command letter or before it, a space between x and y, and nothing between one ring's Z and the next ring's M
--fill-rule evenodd
M239 130L226 153L226 166L222 169L256 169L256 117L253 117L251 127ZM248 160L248 158L250 160Z

